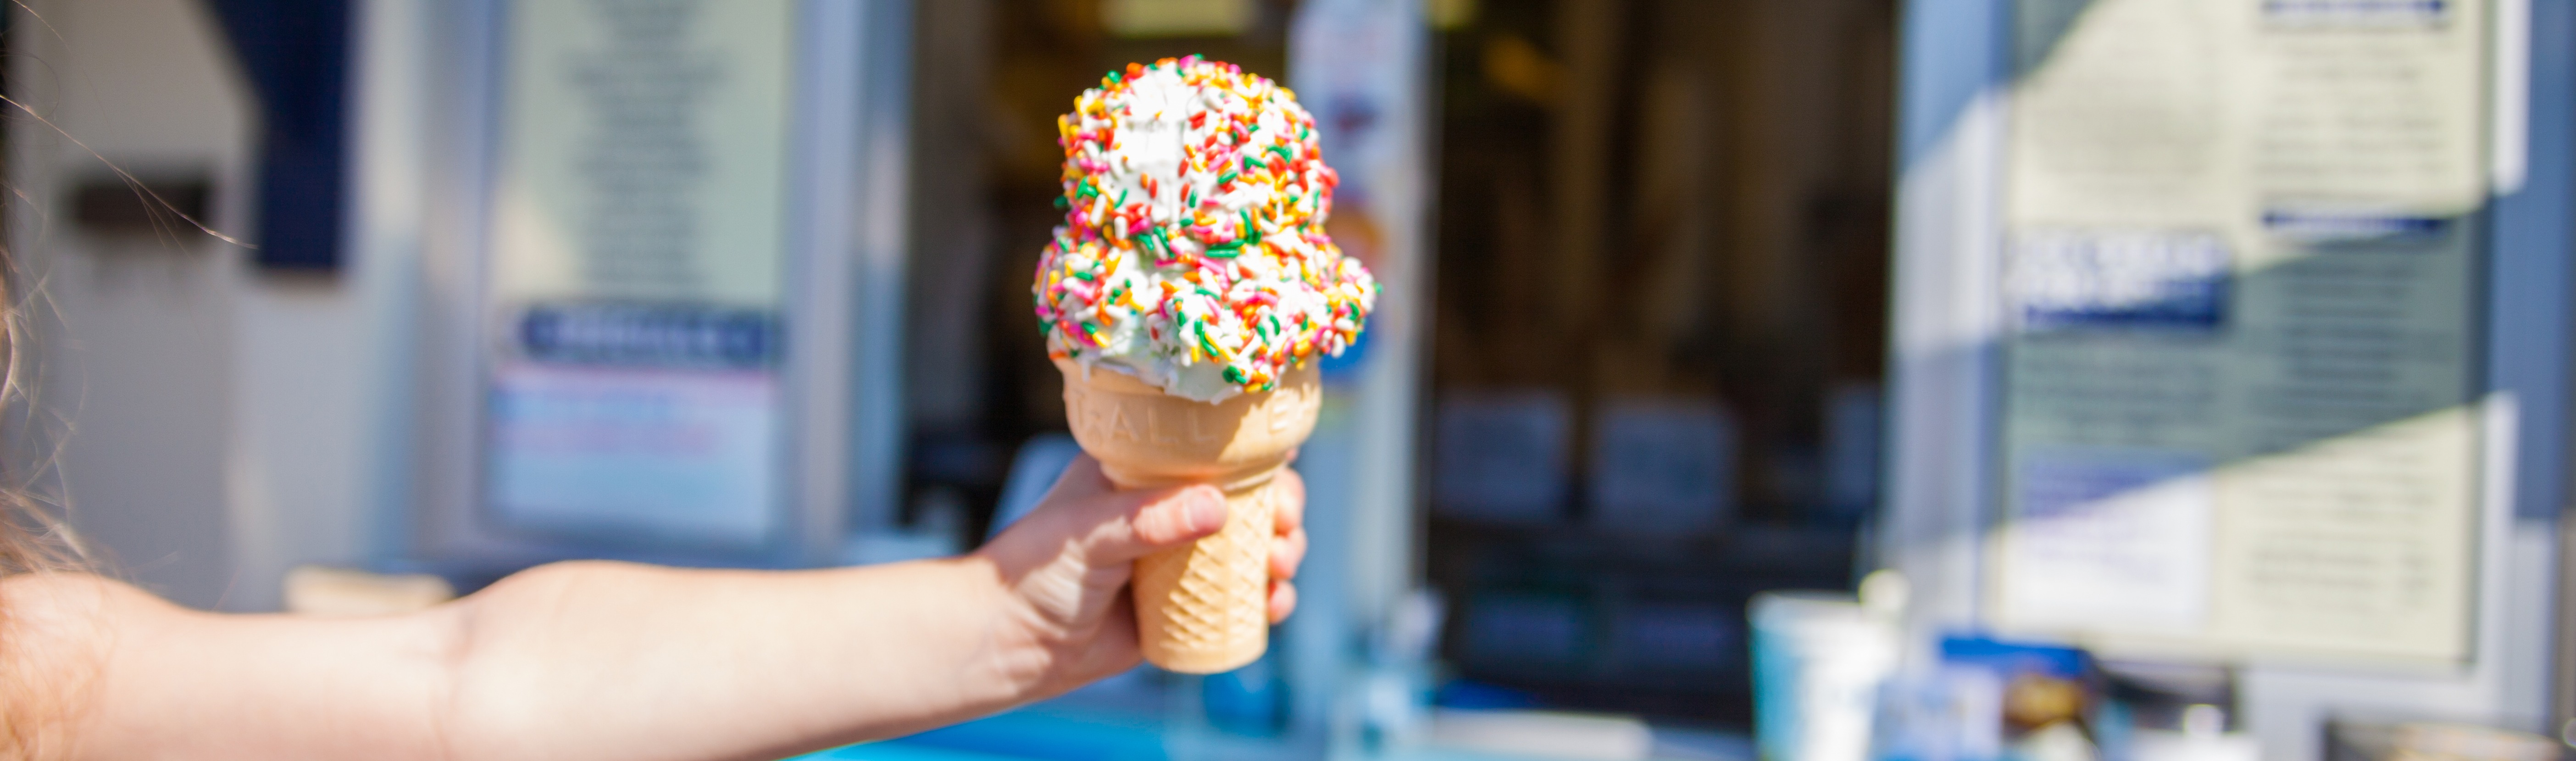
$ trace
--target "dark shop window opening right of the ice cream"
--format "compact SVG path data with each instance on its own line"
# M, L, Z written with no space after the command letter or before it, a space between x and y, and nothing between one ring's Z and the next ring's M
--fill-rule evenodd
M1747 601L1850 588L1878 503L1896 3L1427 13L1440 658L1749 727Z

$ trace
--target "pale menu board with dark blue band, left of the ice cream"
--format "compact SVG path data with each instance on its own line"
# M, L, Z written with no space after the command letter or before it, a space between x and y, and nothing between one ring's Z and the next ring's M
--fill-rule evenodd
M513 0L484 503L757 544L783 519L791 0Z

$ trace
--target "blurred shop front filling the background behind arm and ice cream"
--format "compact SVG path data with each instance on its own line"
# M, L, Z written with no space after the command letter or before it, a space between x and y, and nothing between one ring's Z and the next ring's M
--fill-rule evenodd
M1206 54L1386 284L1298 617L829 758L2555 758L2571 13L28 0L8 464L232 611L963 552L1054 119Z

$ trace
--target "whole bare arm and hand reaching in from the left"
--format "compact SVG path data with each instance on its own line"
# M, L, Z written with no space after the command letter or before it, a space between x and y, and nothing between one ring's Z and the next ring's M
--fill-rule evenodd
M781 758L1136 666L1128 562L1221 524L1208 488L1113 493L1079 459L1036 513L951 560L562 562L381 619L204 614L82 575L13 578L0 642L31 678L0 699L64 707L36 758ZM1283 511L1273 575L1301 555ZM1273 619L1288 606L1280 583Z

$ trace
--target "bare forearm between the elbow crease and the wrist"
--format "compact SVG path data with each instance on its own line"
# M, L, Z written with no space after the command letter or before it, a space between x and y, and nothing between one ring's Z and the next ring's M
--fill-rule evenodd
M466 598L459 758L778 758L1025 699L974 557L755 573L580 562Z

